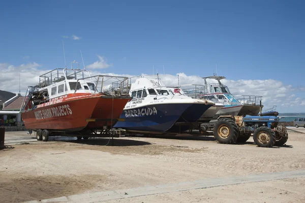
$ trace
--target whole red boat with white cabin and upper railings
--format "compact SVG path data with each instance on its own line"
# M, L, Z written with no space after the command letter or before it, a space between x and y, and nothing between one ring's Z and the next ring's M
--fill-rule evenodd
M38 140L47 141L63 132L110 129L129 100L127 77L58 68L41 75L39 85L29 86L21 118L27 129L37 131Z

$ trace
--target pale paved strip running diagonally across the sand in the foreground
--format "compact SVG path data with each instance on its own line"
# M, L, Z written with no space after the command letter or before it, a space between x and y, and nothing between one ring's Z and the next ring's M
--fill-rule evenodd
M136 196L154 195L154 194L186 191L193 189L219 187L225 185L236 185L236 184L254 183L254 182L262 182L262 181L274 181L274 180L299 178L299 177L305 177L305 170L261 173L261 174L237 176L237 177L212 178L212 179L203 179L197 181L180 182L180 183L165 184L165 185L144 186L138 188L125 189L125 190L110 190L110 191L93 192L93 193L86 192L82 194L62 196L62 197L56 197L50 199L42 199L39 201L33 200L27 202L31 202L31 203L67 202L67 201L101 202L112 199L123 199L123 198L136 197ZM128 195L125 195L125 192L127 192Z

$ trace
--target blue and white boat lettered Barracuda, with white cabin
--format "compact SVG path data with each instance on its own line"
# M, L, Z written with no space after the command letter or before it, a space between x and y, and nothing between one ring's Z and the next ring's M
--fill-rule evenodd
M138 78L131 84L132 99L114 128L141 132L178 132L189 129L215 103L182 96L161 85L158 78ZM178 125L179 124L179 125Z

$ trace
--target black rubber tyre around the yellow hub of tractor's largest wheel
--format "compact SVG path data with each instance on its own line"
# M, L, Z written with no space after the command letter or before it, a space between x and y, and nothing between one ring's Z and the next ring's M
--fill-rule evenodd
M230 134L226 138L223 138L218 134L219 127L221 126L227 126L230 129ZM227 118L221 119L214 126L214 137L217 139L219 143L222 144L235 143L238 137L238 133L239 133L238 127L232 119L227 119Z

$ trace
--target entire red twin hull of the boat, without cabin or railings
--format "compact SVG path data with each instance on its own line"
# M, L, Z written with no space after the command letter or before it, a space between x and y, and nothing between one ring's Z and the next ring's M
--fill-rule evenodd
M87 122L86 119L118 119L129 97L112 97L92 94L66 95L48 103L38 105L34 110L21 114L27 129L48 129L58 131L80 131L103 129L106 122ZM114 122L113 122L114 123ZM107 123L108 126L111 122Z

